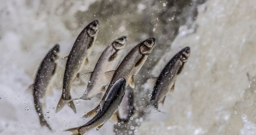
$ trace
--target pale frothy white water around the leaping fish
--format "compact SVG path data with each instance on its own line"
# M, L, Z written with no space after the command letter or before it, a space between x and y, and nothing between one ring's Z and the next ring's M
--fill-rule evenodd
M47 96L44 108L44 112L50 112L46 113L46 119L53 131L40 126L27 87L33 83L37 67L55 43L61 45L61 56L69 53L84 26L80 26L74 16L77 11L86 11L92 2L66 2L69 8L63 8L62 1L1 1L0 134L68 135L71 132L64 132L65 129L89 120L81 117L98 104L95 98L76 104L76 114L68 107L55 113L53 107L61 95L63 69L54 78L54 93ZM256 83L253 80L256 76L256 1L209 0L198 10L196 32L181 28L170 52L164 54L151 71L157 76L173 54L184 46L191 47L191 56L178 76L175 91L159 107L166 114L152 110L149 119L135 127L139 134L256 134ZM88 20L93 19L97 18ZM89 58L94 64L104 49L100 44L108 43L96 44ZM83 72L91 71L94 64L85 67ZM84 85L72 88L73 98L84 92ZM29 110L25 111L27 107ZM107 122L100 130L88 134L113 134L113 124Z

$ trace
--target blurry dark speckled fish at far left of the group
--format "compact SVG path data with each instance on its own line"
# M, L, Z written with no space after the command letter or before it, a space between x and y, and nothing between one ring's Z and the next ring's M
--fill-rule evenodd
M50 49L47 55L42 60L39 69L36 73L36 79L29 88L33 90L33 102L35 105L36 112L39 116L41 126L46 126L49 130L52 130L48 122L43 116L43 109L41 101L45 97L47 90L51 88L49 85L53 75L55 74L59 52L59 44Z

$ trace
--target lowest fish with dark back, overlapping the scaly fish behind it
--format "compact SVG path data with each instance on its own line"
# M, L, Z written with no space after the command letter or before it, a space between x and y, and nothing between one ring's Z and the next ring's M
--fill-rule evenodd
M95 116L89 120L85 125L71 128L66 131L73 132L73 135L82 135L86 132L96 128L99 130L105 122L108 120L117 124L116 111L120 106L123 96L125 94L126 81L124 78L118 79L114 85L112 85L109 90L108 95L105 100L101 100L99 106L100 110L95 114Z

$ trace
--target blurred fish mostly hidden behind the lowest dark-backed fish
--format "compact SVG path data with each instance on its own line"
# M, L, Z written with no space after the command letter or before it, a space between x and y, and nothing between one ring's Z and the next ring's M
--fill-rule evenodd
M119 121L127 122L135 112L133 89L126 87L123 101L118 109L117 118Z

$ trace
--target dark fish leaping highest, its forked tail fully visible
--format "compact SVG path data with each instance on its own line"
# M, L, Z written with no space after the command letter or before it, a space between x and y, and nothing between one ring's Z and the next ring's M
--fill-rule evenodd
M70 95L71 85L72 82L79 77L79 72L82 70L83 65L87 64L88 56L92 51L92 46L97 37L98 26L98 20L89 23L76 38L70 54L62 59L61 63L66 63L66 66L62 94L56 107L56 113L58 113L66 104L76 113L73 101L69 101L72 99Z

